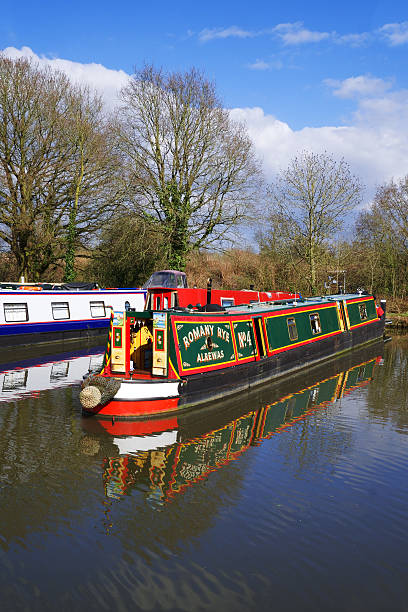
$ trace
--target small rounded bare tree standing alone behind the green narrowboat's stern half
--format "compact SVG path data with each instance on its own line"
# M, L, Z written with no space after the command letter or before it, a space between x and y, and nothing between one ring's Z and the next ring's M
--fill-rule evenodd
M269 193L274 232L299 262L307 263L313 293L317 265L329 239L361 201L360 181L344 159L304 151L279 174Z

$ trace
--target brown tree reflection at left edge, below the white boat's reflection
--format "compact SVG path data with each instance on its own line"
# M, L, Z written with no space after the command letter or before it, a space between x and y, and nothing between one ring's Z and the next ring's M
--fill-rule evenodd
M3 403L0 412L0 542L38 529L57 529L85 503L89 457L78 453L80 426L72 418L74 388Z

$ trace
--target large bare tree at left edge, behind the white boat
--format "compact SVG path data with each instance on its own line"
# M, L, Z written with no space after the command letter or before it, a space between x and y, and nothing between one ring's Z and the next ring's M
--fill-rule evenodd
M87 90L0 55L0 239L26 279L41 278L103 219L112 170L105 131Z

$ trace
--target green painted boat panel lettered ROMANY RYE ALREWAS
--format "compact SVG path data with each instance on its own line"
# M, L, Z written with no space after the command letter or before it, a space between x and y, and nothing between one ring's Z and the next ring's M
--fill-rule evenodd
M217 321L175 321L184 371L235 361L231 324Z

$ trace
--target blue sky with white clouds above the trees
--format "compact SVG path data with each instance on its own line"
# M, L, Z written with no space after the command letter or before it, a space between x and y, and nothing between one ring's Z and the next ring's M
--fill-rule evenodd
M0 50L100 91L135 68L203 70L244 121L268 181L300 151L327 152L365 184L408 174L408 3L388 0L8 2Z

